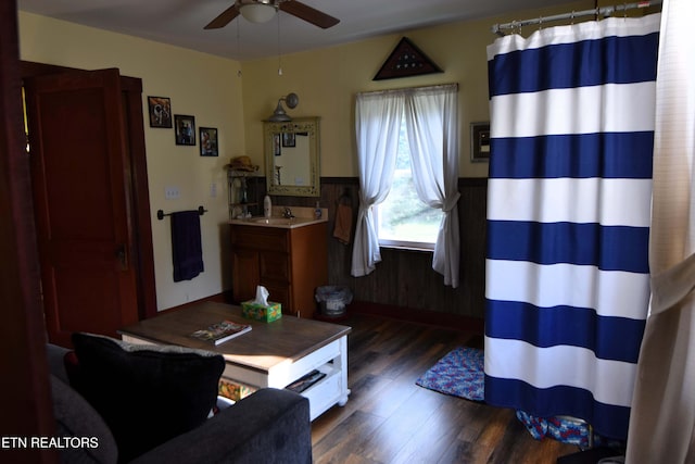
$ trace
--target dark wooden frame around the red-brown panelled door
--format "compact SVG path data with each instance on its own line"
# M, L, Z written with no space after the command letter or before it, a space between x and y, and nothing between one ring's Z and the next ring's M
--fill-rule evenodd
M36 77L65 72L83 72L74 67L21 61L22 78ZM144 143L144 116L142 111L142 79L121 76L125 124L128 136L128 155L130 158L129 190L132 193L131 221L134 255L131 262L137 266L138 316L140 319L156 315L156 286L154 280L154 251L152 244L152 216L150 213L150 192L147 171L147 151Z

